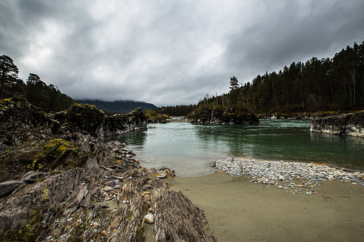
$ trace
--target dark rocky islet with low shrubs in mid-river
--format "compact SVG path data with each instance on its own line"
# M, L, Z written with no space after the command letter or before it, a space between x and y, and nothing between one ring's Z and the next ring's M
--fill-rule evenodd
M235 110L234 108L222 109L213 107L195 110L189 113L187 118L190 123L201 124L259 124L257 116L252 111Z

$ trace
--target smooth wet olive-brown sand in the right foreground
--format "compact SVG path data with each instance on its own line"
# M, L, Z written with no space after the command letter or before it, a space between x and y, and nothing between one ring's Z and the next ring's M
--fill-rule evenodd
M308 195L251 180L218 172L164 181L205 211L219 242L364 241L364 186L321 181Z

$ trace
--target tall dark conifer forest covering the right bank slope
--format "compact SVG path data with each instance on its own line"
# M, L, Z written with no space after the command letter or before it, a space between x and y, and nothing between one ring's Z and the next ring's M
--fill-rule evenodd
M197 105L156 109L157 113L186 116L195 108L236 106L262 112L359 110L364 103L364 41L347 46L332 59L292 62L277 72L258 75L251 82L230 78L230 92L206 96Z

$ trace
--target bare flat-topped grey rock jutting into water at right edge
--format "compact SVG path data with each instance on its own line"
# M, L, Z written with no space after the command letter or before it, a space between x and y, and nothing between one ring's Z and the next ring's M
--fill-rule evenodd
M316 118L310 131L364 137L364 111Z

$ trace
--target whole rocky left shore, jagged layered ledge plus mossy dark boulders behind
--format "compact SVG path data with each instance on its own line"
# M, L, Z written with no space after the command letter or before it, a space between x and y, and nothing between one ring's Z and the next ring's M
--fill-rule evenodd
M173 171L142 168L125 144L100 142L143 127L139 110L107 119L88 105L52 116L22 98L1 104L0 183L17 188L0 198L0 241L139 242L146 214L156 241L216 241L204 212L159 180Z

